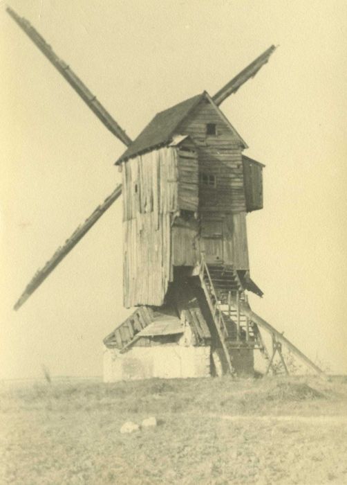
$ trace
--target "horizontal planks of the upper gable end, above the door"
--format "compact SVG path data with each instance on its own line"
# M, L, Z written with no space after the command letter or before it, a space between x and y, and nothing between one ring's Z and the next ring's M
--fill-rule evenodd
M216 135L207 135L207 123ZM197 145L199 173L215 175L216 186L199 184L199 211L234 213L245 211L241 141L211 103L202 100L178 127Z

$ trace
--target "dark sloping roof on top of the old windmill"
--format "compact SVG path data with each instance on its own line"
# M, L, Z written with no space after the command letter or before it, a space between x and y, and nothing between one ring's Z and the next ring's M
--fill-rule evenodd
M165 143L171 141L176 127L204 96L205 93L198 94L156 114L115 164L118 165L150 148L165 145Z

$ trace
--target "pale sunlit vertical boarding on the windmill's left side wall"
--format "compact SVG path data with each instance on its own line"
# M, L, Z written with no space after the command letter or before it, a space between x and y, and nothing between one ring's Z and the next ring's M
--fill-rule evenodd
M178 206L176 148L123 163L124 306L162 305L171 280L171 214Z

